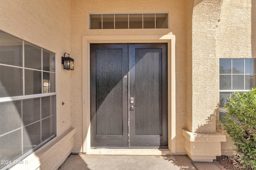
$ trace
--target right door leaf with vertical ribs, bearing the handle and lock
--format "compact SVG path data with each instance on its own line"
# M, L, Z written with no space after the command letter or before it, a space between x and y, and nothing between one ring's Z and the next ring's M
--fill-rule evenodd
M130 44L130 146L168 145L166 44Z

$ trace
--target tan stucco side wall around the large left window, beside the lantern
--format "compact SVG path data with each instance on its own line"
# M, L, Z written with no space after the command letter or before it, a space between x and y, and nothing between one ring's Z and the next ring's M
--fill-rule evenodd
M70 5L70 0L1 0L0 2L1 30L56 53L58 137L47 146L44 145L38 149L39 152L36 152L38 155L28 156L28 158L32 158L30 159L32 162L37 162L34 164L36 168L41 165L45 167L49 163L52 167L59 166L73 147L72 137L62 140L62 147L54 147L66 136L62 136L62 134L66 134L71 128L71 71L64 70L61 64L61 56L65 52L71 53ZM62 102L65 103L63 106ZM63 127L62 121L64 121ZM42 156L40 150L44 150L46 147L55 149L48 152L47 156ZM49 161L50 158L54 159ZM31 168L32 162L30 161L24 169Z

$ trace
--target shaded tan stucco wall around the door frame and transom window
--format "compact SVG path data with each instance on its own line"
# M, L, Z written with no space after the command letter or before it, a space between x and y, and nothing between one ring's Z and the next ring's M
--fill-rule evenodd
M72 126L76 128L73 152L82 152L82 35L176 35L176 151L184 152L182 127L185 127L186 98L186 0L72 0L72 55L76 68L72 72ZM88 29L88 13L169 12L169 29ZM89 83L89 82L88 82ZM85 129L87 130L87 129Z

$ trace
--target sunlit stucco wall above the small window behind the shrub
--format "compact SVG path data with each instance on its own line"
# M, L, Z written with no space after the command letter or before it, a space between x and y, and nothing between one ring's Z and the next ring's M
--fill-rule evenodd
M254 0L223 0L220 20L216 35L216 56L221 58L255 58L255 18L256 2ZM217 65L218 66L218 65ZM219 69L219 67L218 67ZM219 84L219 73L216 74ZM219 94L216 94L219 100ZM217 117L219 119L219 117ZM221 150L224 155L233 155L236 149L228 134L226 142L222 142Z

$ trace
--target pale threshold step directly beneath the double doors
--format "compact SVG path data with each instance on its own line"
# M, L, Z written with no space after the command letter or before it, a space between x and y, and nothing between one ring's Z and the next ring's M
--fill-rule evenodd
M90 155L152 155L152 156L161 156L161 155L184 155L186 153L172 153L169 149L106 149L106 148L97 148L90 149L86 154Z

